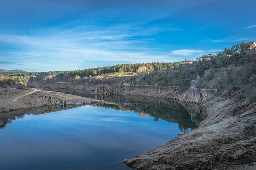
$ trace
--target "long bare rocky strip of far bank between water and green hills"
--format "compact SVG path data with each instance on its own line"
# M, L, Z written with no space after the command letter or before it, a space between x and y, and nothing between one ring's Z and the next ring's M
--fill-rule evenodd
M196 80L193 80L196 81ZM151 86L141 83L139 78L130 78L118 84L93 84L82 82L41 82L36 84L38 88L78 96L96 96L100 100L110 98L112 95L124 96L152 96L183 102L199 103L207 100L217 93L216 89L199 89L193 85L190 88L179 86Z

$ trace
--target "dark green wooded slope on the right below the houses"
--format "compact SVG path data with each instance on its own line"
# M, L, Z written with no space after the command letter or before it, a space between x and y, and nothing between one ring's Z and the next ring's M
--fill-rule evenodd
M256 100L256 51L242 55L243 43L217 53L211 60L194 61L176 68L157 70L142 77L149 85L190 87L218 90L244 90L244 95Z

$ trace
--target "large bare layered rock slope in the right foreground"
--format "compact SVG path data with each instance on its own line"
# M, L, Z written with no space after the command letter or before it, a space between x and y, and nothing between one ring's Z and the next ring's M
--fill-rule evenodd
M201 103L200 127L123 162L138 170L250 169L256 160L256 103L223 92ZM237 165L242 168L237 168ZM252 168L253 169L253 168Z

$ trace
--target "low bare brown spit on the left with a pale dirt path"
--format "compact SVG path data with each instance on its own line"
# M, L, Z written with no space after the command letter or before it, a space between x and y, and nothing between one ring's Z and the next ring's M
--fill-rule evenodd
M98 102L103 101L34 88L25 90L0 88L0 113L29 107L82 105Z

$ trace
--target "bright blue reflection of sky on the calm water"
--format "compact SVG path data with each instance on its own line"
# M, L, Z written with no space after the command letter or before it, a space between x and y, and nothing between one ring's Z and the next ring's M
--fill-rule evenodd
M123 159L161 146L179 131L175 123L92 106L26 115L0 130L0 165L6 170L126 170Z

